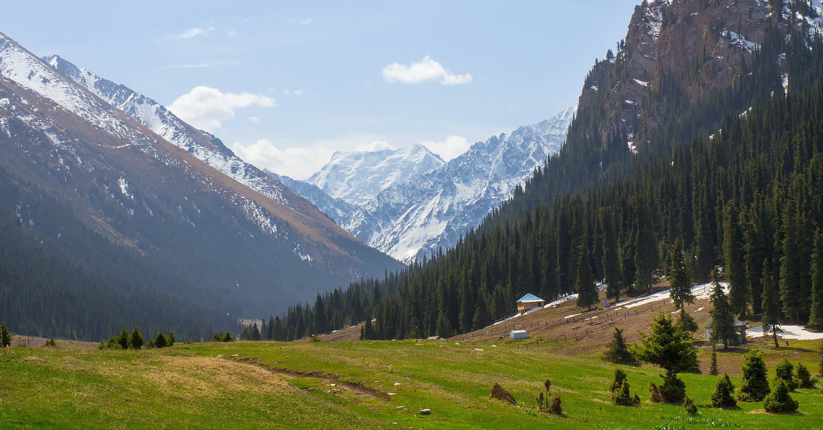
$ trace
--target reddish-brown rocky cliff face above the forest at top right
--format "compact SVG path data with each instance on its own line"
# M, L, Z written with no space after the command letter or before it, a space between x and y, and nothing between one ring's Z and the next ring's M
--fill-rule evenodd
M625 41L587 76L579 109L604 109L607 119L597 127L603 144L616 133L636 151L669 118L667 104L677 96L695 103L734 85L770 25L783 34L791 25L813 31L821 14L819 0L644 1Z

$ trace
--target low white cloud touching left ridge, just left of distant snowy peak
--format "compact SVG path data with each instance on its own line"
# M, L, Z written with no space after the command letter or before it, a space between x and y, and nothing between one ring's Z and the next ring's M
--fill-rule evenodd
M231 150L251 164L295 179L309 178L332 157L332 150L326 148L292 146L281 150L267 139L259 139L250 145L235 142Z

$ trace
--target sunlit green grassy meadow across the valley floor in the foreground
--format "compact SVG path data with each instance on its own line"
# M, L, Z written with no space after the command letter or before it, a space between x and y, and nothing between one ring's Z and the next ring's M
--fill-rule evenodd
M542 344L454 344L436 340L232 342L142 351L91 346L12 349L0 355L0 428L820 428L823 395L793 393L800 414L710 408L718 377L683 374L700 407L653 405L657 368L625 368L639 407L611 405L614 366L556 354ZM816 372L816 343L764 348ZM482 350L478 350L482 349ZM741 351L720 353L731 365ZM701 354L701 359L708 356ZM561 417L535 412L546 377ZM737 384L738 378L732 380ZM500 382L518 406L490 400ZM333 384L333 386L332 386ZM430 415L420 410L429 408Z

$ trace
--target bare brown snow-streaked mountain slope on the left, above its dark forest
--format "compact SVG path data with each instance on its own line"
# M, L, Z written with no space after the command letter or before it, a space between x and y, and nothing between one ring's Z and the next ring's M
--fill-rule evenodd
M174 273L134 282L142 291L179 298L180 307L240 317L285 309L318 290L401 267L285 187L275 199L237 182L2 34L0 72L0 168L13 190L2 205L31 226L33 237L56 238L54 252L92 273L131 282L112 269L113 261L146 274ZM61 213L38 206L35 196L56 201ZM55 218L62 224L50 224ZM63 229L90 230L119 247L114 255L133 261L114 259L111 247L92 245L96 239L84 233L63 236ZM54 316L35 311L6 318L26 321L13 328L21 330L51 326ZM135 322L123 315L110 320ZM109 334L88 326L70 330Z

